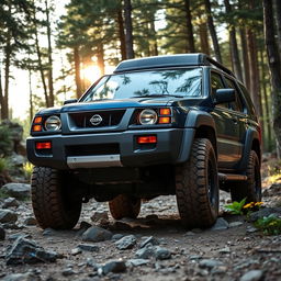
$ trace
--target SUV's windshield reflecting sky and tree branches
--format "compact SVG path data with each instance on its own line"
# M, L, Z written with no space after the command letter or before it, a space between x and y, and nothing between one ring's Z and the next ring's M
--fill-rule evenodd
M201 68L149 70L104 76L82 99L132 99L137 97L200 97Z

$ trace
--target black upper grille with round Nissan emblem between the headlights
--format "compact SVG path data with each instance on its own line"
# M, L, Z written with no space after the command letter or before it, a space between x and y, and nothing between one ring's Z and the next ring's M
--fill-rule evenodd
M77 127L105 127L116 126L120 124L125 110L113 111L94 111L94 112L81 112L70 113L69 116ZM98 116L100 122L91 122L93 116Z

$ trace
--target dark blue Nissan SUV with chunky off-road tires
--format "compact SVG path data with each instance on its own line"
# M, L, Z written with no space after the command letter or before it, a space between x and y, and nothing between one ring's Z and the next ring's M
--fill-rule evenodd
M184 226L209 227L220 188L261 200L260 142L246 88L206 55L125 60L78 101L35 115L34 214L43 228L71 228L91 198L119 220L176 194Z

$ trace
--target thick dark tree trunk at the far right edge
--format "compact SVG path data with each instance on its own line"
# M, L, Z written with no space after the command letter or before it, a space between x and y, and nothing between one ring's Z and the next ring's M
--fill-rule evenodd
M274 41L274 18L272 12L272 0L262 0L262 2L266 47L272 86L273 128L277 139L278 157L281 158L281 65L278 47Z

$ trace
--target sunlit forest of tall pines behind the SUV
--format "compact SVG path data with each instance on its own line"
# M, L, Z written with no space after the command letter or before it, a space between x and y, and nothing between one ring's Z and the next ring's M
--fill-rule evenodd
M246 85L263 151L280 157L280 0L0 0L0 19L1 121L25 135L40 108L79 98L123 59L201 52Z

